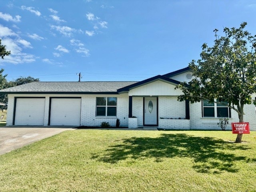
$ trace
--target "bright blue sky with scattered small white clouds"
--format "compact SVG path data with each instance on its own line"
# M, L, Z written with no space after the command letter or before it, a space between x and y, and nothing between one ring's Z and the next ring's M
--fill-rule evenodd
M188 66L215 28L256 34L256 1L0 0L7 79L140 81ZM222 34L222 33L220 33Z

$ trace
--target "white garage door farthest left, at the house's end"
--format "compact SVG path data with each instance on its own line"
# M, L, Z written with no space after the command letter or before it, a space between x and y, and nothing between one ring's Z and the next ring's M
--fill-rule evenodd
M45 98L16 98L14 125L44 125Z

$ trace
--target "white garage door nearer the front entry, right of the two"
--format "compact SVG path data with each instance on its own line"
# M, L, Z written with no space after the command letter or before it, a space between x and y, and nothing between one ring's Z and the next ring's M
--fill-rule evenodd
M80 98L52 98L50 125L80 126Z

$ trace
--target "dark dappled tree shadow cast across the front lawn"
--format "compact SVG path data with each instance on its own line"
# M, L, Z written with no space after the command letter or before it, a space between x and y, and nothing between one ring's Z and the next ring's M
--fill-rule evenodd
M211 137L196 137L187 134L162 134L158 138L133 137L122 141L122 144L110 146L102 154L94 154L92 158L103 162L117 163L120 160L188 157L194 159L193 168L197 172L222 171L237 172L236 161L246 160L244 156L231 154L234 150L247 150L242 146ZM225 151L228 150L228 151Z

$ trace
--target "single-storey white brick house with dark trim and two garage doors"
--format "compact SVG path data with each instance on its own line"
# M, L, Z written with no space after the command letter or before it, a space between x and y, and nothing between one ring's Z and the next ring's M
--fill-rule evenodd
M175 86L192 78L187 67L140 82L32 82L0 94L8 94L7 126L115 126L118 118L120 126L129 128L220 129L220 113L230 123L239 122L225 106L178 102L182 91ZM256 130L255 106L245 105L244 113L244 121Z

